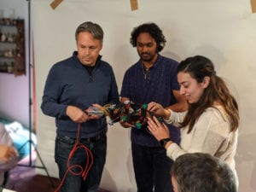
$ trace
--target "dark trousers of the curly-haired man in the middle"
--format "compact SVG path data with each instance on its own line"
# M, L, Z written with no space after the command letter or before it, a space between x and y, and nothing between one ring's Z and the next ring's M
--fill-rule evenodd
M173 192L172 160L162 147L146 147L131 143L137 192Z

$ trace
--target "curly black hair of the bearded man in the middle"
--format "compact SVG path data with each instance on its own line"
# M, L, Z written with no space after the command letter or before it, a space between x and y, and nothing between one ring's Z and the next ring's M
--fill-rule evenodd
M140 26L137 26L131 32L130 43L133 47L137 46L137 37L142 32L148 32L152 38L154 38L157 44L157 51L160 52L166 46L166 38L163 35L160 27L154 23L144 23Z

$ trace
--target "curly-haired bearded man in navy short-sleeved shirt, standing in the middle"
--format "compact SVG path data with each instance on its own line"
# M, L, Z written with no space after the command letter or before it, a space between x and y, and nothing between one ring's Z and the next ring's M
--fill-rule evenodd
M131 32L130 43L137 48L139 60L129 67L120 92L121 102L127 100L148 104L160 102L165 108L184 111L185 98L179 94L177 61L160 55L166 38L160 27L144 23ZM166 149L147 130L147 125L137 129L134 125L121 123L131 129L131 152L137 182L137 192L172 192L170 170L172 160L166 158ZM168 125L172 140L179 142L177 127Z

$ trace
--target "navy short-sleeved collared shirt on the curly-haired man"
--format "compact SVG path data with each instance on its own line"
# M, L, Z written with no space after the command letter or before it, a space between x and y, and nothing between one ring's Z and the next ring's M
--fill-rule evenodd
M153 67L144 79L143 63L137 61L127 69L123 79L120 96L130 98L132 102L159 102L163 107L176 103L172 90L179 90L177 83L177 61L158 55ZM179 142L179 131L173 125L167 125L173 142ZM148 147L157 147L159 143L147 129L131 129L131 142Z

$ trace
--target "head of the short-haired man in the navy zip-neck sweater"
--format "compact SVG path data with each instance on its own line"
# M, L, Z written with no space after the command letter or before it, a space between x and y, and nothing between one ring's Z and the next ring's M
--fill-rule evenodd
M75 38L78 58L84 66L92 67L96 64L96 59L102 49L103 36L102 27L96 23L88 21L78 26Z

